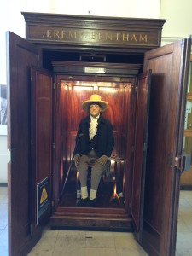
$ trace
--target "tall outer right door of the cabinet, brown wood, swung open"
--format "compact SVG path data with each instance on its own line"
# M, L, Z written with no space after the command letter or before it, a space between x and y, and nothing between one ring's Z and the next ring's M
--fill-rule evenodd
M146 53L152 69L141 243L149 255L175 255L190 39Z

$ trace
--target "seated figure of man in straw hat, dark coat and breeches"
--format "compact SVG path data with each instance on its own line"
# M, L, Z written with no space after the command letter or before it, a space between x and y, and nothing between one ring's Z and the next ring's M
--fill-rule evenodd
M75 166L79 171L81 184L81 199L79 207L96 206L97 188L102 173L109 164L114 147L113 126L102 116L108 109L108 102L101 96L93 94L90 100L82 103L82 108L88 116L81 120L76 137L74 152ZM88 168L91 166L90 195L87 190Z

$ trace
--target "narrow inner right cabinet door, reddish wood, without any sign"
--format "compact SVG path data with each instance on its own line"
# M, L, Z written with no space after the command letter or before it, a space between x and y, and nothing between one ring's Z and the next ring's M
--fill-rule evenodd
M143 193L148 143L148 111L151 70L142 73L137 81L137 113L135 150L132 176L131 218L137 240L143 223Z

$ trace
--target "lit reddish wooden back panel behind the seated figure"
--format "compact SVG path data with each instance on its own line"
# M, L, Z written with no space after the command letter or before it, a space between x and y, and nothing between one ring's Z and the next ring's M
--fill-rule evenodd
M67 153L67 166L72 158L73 150L75 148L75 137L78 131L79 123L87 113L82 109L82 102L89 100L91 94L99 94L103 101L108 102L108 110L103 113L103 116L109 119L113 125L115 146L113 154L120 157L125 157L127 149L127 128L128 115L130 108L130 83L111 83L111 82L84 82L84 81L64 81L67 90L63 93L67 94L66 110L62 113L62 119L66 119L62 127L63 136L67 131L67 146L63 145L63 154ZM64 104L61 102L61 105ZM66 134L66 133L65 133ZM64 170L67 172L67 168ZM65 173L64 173L65 177Z

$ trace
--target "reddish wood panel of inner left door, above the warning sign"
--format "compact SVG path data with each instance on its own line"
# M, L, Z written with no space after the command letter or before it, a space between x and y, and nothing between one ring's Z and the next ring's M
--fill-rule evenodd
M52 77L36 74L36 181L44 180L50 175L52 148Z

